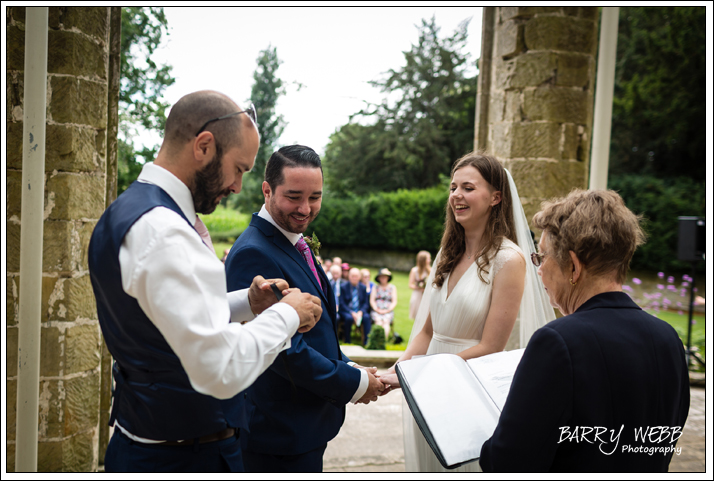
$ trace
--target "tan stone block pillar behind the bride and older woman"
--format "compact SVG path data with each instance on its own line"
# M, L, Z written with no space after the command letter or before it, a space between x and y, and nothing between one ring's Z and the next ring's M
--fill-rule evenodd
M511 171L530 222L543 200L587 188L598 9L485 10L490 85L479 81L489 91L479 92L488 108L477 111L476 147Z

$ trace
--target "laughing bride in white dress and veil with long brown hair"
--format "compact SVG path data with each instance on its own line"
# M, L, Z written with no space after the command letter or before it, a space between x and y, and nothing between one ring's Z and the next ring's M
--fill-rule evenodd
M503 351L519 310L525 347L535 329L555 318L536 270L526 263L535 247L518 192L495 158L472 152L454 164L446 211L441 249L409 345L397 362L424 354L471 359ZM380 380L399 386L394 366ZM480 471L478 461L443 468L406 404L403 419L406 471Z

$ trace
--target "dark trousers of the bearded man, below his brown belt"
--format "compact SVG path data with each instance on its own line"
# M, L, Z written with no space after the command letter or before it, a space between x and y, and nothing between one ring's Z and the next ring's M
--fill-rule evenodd
M237 436L188 446L145 444L114 430L104 456L108 473L242 473L243 459Z

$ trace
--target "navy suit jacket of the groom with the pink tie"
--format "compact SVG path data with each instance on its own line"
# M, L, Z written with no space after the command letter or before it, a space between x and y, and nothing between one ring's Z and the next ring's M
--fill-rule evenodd
M313 262L324 290L290 241L257 214L226 259L229 291L261 275L285 279L322 302L315 327L296 333L290 348L247 390L253 412L243 446L252 452L295 455L323 446L339 432L345 405L360 384L360 370L347 364L337 341L335 295L314 256Z

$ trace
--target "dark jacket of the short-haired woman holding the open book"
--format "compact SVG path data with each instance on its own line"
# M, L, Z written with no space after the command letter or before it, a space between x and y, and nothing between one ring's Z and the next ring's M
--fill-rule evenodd
M662 451L676 442L688 412L689 373L676 331L627 294L599 294L533 334L481 467L667 471L672 453ZM636 430L658 426L667 434L657 428L646 442L635 438ZM596 427L607 429L598 439L583 429ZM650 448L661 451L637 452Z

